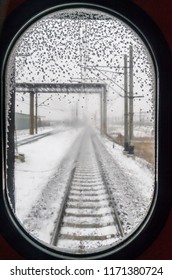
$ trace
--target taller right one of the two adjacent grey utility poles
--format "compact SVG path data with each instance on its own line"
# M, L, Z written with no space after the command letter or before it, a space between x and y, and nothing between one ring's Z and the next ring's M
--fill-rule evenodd
M129 154L134 154L133 144L133 46L130 46L130 61L129 61Z

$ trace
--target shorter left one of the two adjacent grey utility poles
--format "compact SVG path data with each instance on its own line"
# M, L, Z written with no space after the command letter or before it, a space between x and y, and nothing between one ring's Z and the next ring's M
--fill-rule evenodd
M127 55L124 55L124 152L128 152L128 70Z

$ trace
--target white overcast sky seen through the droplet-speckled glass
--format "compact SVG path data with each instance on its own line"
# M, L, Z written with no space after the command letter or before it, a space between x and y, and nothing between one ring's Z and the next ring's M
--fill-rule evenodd
M122 117L124 55L129 57L131 44L134 95L143 96L140 100L134 99L134 112L138 115L140 109L152 111L154 70L147 48L122 21L94 10L56 12L27 29L15 46L16 82L106 83L108 117ZM78 106L81 118L84 114L89 118L99 116L100 100L96 94L89 94L87 98L85 94L53 94L45 101L50 96L47 93L38 96L39 115L50 119L70 118ZM17 94L16 111L29 113L29 94Z

